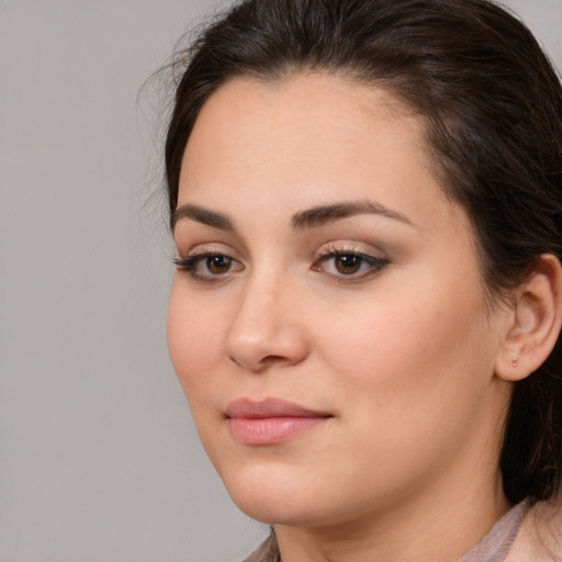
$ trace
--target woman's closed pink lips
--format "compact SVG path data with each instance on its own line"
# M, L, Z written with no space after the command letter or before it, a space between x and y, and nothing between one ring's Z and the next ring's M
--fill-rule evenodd
M280 398L238 398L226 408L234 440L241 445L278 445L334 417Z

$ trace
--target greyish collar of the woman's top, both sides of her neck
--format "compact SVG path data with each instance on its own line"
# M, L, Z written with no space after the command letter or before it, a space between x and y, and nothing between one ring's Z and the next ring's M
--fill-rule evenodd
M528 509L527 502L517 504L457 562L504 562ZM271 533L244 562L280 562L274 535Z

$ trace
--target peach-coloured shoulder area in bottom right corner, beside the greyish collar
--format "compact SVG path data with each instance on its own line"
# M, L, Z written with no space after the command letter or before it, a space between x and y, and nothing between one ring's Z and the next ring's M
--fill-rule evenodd
M562 501L527 512L505 562L562 562Z

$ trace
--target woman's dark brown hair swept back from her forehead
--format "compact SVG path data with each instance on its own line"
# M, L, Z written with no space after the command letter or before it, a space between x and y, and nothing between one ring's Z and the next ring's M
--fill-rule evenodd
M201 106L227 80L324 71L393 92L427 122L443 189L469 213L491 295L562 256L562 89L529 30L488 0L246 0L177 55L166 142L170 211ZM477 352L477 350L474 350ZM562 464L560 339L515 384L501 456L517 503L552 497Z

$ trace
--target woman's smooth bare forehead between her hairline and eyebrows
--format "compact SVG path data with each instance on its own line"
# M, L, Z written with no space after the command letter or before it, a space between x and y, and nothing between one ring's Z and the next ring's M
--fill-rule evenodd
M382 88L317 74L236 79L195 122L179 205L259 213L270 224L342 199L374 200L435 223L462 210L445 195L426 146L424 120Z

